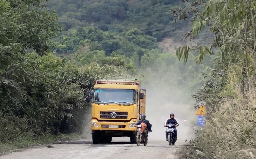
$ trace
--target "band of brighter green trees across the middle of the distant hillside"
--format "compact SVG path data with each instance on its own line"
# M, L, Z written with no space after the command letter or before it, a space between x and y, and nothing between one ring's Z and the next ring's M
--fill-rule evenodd
M155 38L146 36L137 29L132 29L127 33L122 32L122 34L119 35L112 31L102 31L92 27L74 28L59 36L55 43L55 50L57 53L72 53L78 50L78 45L81 47L81 45L92 43L89 48L90 51L103 50L106 56L115 52L130 57L134 52L142 56L146 51L158 47Z

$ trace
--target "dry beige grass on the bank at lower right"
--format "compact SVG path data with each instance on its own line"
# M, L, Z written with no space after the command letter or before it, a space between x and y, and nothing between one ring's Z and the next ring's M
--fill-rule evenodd
M256 158L256 89L251 87L245 100L239 86L232 81L230 84L237 98L219 105L218 111L208 115L203 133L182 150L182 159ZM196 154L196 150L204 152L205 156Z

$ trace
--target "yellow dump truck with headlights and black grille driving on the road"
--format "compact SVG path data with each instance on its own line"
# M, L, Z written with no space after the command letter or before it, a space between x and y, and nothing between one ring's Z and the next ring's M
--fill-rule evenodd
M92 102L91 130L94 144L110 143L112 137L130 137L140 115L145 113L146 89L137 79L96 79L86 91L86 101Z

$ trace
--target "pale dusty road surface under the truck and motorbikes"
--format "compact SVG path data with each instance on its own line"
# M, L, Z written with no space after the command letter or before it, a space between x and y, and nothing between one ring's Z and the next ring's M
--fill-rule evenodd
M164 132L155 132L154 134ZM150 138L151 136L151 138ZM16 152L0 156L0 159L177 159L176 152L184 144L184 137L180 137L176 145L170 146L164 141L164 135L159 138L149 134L147 146L131 144L129 138L113 138L111 144L93 144L92 141L83 140L74 142L63 142L62 144L50 144L53 148L43 145L36 148L22 149Z

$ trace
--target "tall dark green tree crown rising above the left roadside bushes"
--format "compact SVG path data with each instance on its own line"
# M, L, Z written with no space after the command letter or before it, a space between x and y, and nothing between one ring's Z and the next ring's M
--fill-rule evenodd
M45 6L41 3L45 0L8 0L8 2L12 12L18 15L17 24L21 26L17 42L44 55L51 48L50 39L56 36L56 30L59 29L56 14L43 9Z

